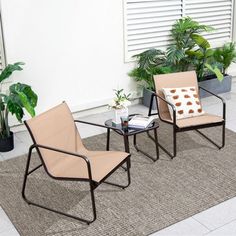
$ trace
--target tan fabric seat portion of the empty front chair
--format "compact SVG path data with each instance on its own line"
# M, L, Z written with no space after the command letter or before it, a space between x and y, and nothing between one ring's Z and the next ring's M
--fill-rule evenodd
M100 182L129 155L126 152L88 151L86 149L80 150L78 153L88 157L91 164L92 180L96 182ZM62 178L89 178L87 164L83 159L64 154L60 156L50 170L51 175Z

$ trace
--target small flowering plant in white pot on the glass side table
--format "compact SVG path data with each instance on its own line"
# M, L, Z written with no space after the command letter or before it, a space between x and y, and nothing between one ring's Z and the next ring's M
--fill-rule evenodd
M109 104L109 108L114 111L112 122L115 124L121 123L121 117L128 117L128 106L131 104L130 102L130 93L125 94L124 89L116 90L115 98L112 100L111 104Z

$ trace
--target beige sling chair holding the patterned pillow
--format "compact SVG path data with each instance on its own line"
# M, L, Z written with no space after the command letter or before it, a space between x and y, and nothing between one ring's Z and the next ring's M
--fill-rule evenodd
M150 102L150 107L149 107L149 116L159 115L159 118L161 121L173 126L173 153L166 150L166 148L163 147L163 145L159 143L159 146L163 151L165 151L171 158L174 158L177 152L176 135L178 132L183 132L183 131L188 131L188 130L196 130L201 136L206 138L209 142L214 144L219 149L224 147L225 145L225 118L226 118L225 117L226 105L225 105L224 99L206 90L205 88L198 86L197 76L196 76L195 71L154 75L154 84L155 84L155 93L153 93L151 97L151 102ZM196 87L198 94L199 94L199 90L202 89L206 93L209 93L210 95L213 95L215 98L220 99L223 105L222 117L205 113L200 116L177 120L176 108L174 104L168 102L165 99L162 89L163 88L181 88L181 87ZM157 103L157 113L152 113L152 104L153 104L154 97ZM172 109L173 119L170 116L168 105ZM210 139L201 131L199 131L199 129L202 129L202 128L215 127L215 126L222 126L222 143L220 145L218 145L212 139ZM150 135L149 137L152 138L152 136Z

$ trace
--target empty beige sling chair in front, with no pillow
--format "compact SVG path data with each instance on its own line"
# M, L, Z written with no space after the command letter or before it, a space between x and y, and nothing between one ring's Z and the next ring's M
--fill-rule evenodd
M25 122L25 125L33 139L33 145L29 148L22 188L22 197L28 204L90 224L96 219L94 198L94 190L96 187L101 183L107 183L121 188L129 186L130 154L118 151L87 150L82 143L75 122L106 128L103 125L79 120L74 121L65 102ZM32 170L29 170L33 149L36 149L41 164ZM127 164L128 184L123 186L107 182L107 177L125 163ZM88 182L93 210L93 218L91 220L83 219L49 208L48 206L34 203L26 198L25 188L27 177L41 166L44 167L46 173L53 179Z

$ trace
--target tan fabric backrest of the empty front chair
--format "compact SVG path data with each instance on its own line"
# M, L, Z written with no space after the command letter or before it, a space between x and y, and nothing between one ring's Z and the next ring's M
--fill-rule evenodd
M84 148L71 111L65 102L33 117L25 124L36 144L69 152L77 152ZM54 165L65 156L65 154L44 148L39 148L39 152L49 173Z

